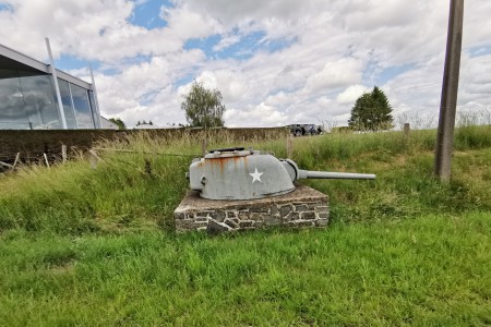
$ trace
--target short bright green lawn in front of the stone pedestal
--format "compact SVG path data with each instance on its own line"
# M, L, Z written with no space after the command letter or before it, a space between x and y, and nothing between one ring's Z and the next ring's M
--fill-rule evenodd
M491 324L491 214L0 240L0 325Z

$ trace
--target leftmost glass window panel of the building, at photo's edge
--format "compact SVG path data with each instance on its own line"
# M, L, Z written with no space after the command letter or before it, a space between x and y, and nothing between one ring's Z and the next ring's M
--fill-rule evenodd
M29 130L19 72L0 69L0 130Z

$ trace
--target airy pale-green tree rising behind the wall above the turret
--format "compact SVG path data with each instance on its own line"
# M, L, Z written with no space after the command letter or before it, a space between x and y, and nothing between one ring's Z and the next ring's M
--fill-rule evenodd
M207 89L203 83L193 82L189 94L181 104L185 120L191 128L215 128L224 125L225 106L218 89Z

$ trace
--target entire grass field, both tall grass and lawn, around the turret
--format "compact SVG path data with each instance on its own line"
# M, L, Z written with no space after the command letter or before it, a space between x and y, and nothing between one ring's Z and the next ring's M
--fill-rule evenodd
M252 145L286 155L285 140ZM133 135L100 145L135 153L99 153L97 169L0 175L0 325L490 325L491 126L457 130L450 184L433 145L434 131L296 138L301 168L378 174L306 181L330 195L325 230L172 233L195 140Z

